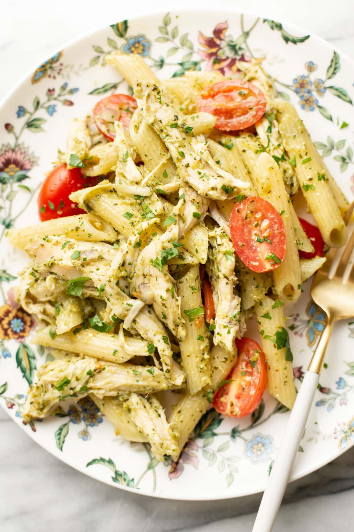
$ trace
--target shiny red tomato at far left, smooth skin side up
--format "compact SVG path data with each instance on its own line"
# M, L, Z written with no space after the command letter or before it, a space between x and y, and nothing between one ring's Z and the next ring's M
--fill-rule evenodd
M51 220L82 214L76 203L69 200L69 195L84 186L96 185L98 178L84 178L80 168L68 169L66 164L59 164L47 176L38 196L38 214L40 220Z

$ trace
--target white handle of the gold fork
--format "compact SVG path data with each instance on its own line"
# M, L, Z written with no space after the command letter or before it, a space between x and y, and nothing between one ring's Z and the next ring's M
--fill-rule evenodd
M288 478L303 436L320 375L306 371L295 405L290 414L286 433L265 488L252 532L271 532Z

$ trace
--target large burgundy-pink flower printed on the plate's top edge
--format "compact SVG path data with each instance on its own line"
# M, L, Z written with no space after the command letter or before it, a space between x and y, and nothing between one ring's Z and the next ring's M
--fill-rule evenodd
M199 32L198 43L203 49L198 54L206 61L205 70L219 70L222 74L230 76L237 72L236 61L249 61L243 54L243 48L237 40L226 36L227 22L221 22L215 26L212 37L207 37Z

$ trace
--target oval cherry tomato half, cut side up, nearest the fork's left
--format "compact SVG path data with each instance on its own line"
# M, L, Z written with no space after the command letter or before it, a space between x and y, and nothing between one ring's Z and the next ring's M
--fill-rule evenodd
M287 237L277 209L263 198L247 196L230 216L232 244L241 261L253 271L278 268L285 256Z

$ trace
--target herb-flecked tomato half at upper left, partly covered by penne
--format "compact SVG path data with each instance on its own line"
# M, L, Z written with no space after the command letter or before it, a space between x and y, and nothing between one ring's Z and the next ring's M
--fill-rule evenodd
M127 94L113 94L102 98L93 109L96 126L108 140L114 140L114 122L119 121L127 129L135 109L136 99Z

